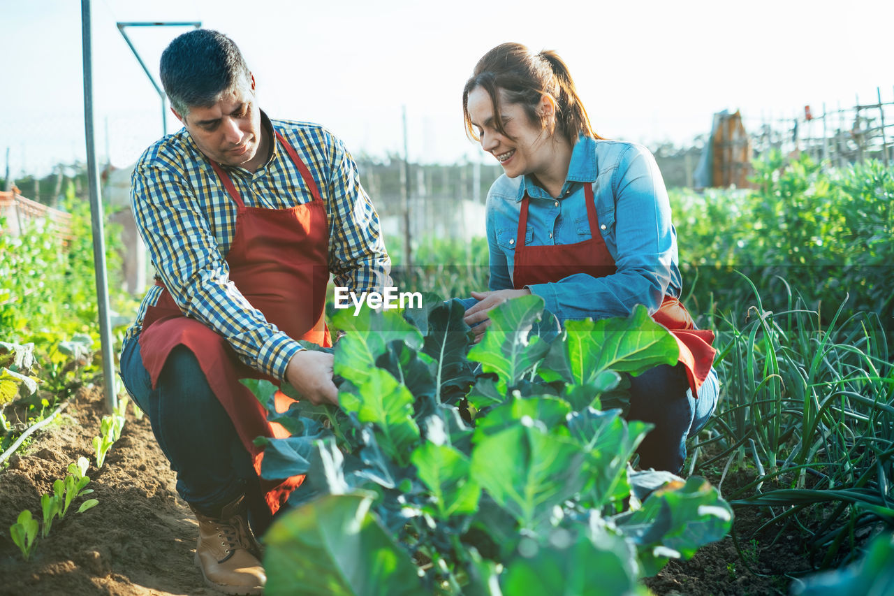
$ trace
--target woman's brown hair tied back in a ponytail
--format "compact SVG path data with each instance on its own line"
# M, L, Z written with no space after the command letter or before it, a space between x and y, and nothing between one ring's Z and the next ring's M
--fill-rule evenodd
M523 106L531 122L539 122L542 129L546 128L547 119L537 113L537 106L544 93L549 93L556 100L556 127L551 133L558 132L571 143L578 140L578 134L602 139L593 132L568 66L552 50L533 54L521 44L505 43L494 47L478 61L471 78L466 81L466 87L462 89L466 132L474 140L479 139L468 114L468 94L477 87L490 96L493 126L502 134L506 134L506 130L500 115L500 89L506 93L510 103Z

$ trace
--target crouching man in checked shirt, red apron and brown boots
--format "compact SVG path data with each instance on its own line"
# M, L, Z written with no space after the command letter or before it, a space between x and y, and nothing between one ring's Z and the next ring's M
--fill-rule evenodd
M389 284L378 216L342 142L270 120L239 48L212 30L175 38L161 79L180 132L139 159L131 204L157 270L122 349L177 490L198 518L196 561L226 593L260 593L258 534L303 480L258 481L266 421L243 377L337 403L323 311L330 272L355 292ZM266 507L265 507L266 502Z

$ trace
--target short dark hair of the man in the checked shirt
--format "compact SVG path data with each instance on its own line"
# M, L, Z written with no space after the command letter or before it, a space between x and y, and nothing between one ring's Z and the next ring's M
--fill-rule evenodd
M224 92L251 80L239 47L223 33L209 29L174 38L162 53L160 70L164 92L183 117L191 106L213 106Z

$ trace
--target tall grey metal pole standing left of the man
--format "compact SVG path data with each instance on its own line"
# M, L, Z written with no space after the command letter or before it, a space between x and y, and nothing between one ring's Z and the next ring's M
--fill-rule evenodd
M80 2L80 33L84 62L84 132L87 136L87 171L90 186L90 223L93 229L93 267L97 276L97 305L99 307L99 338L102 343L105 406L110 412L118 406L118 392L114 382L112 354L112 325L109 322L108 278L105 275L105 234L103 232L103 203L99 199L99 164L93 131L93 49L90 44L90 0Z

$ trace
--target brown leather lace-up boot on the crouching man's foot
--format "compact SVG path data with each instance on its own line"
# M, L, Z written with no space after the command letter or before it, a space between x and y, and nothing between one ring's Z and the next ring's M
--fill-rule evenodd
M262 594L267 576L261 566L261 547L249 528L245 497L225 505L220 515L198 519L196 565L205 583L225 594Z

